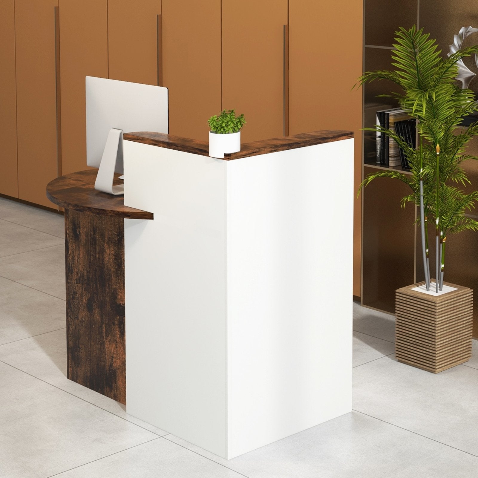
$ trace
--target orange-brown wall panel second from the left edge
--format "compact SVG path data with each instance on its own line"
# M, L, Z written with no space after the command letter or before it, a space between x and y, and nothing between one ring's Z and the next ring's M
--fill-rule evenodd
M57 0L15 0L18 197L52 207L57 176L55 22Z

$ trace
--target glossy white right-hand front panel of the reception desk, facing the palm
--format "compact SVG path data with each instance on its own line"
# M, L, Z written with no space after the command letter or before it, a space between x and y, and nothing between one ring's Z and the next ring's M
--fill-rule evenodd
M353 140L228 163L229 457L351 411Z

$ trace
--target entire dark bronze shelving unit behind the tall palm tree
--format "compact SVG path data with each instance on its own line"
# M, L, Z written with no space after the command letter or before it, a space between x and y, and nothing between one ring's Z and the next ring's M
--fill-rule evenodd
M386 14L384 14L386 12ZM364 1L364 71L392 69L391 50L394 33L399 27L414 24L437 40L446 55L453 36L461 27L478 27L476 9L467 0L365 0ZM478 43L478 33L466 39L464 46ZM474 58L465 64L478 74ZM376 110L397 106L391 98L377 95L393 91L394 85L375 81L364 86L363 126L375 124ZM478 75L470 83L478 91ZM364 132L362 177L384 169L375 163L375 133ZM478 154L478 138L467 149ZM471 181L467 192L478 189L478 164L472 160L463 163ZM400 167L394 169L400 170ZM416 208L401 208L400 200L408 194L408 187L400 181L378 178L362 193L362 281L361 302L370 308L394 314L395 290L424 280L420 235L414 225ZM432 231L433 232L433 231ZM430 251L434 263L434 251ZM447 238L447 282L467 286L474 294L474 337L478 337L478 234L465 232Z

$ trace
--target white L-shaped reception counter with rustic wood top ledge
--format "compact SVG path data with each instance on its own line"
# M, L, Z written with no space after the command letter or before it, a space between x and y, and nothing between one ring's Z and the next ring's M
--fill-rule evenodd
M128 413L224 458L351 411L353 135L124 135Z

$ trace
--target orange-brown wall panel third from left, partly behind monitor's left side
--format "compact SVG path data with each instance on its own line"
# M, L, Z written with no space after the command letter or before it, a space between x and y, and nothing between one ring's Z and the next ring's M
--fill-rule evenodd
M60 69L62 174L69 174L87 169L85 76L108 78L106 0L60 0Z

